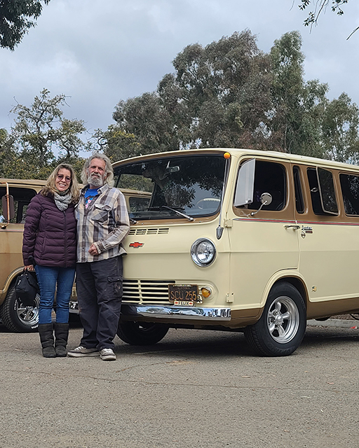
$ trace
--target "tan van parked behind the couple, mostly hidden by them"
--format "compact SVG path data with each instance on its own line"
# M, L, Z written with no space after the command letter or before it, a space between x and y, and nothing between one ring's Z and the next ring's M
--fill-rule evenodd
M27 206L45 181L0 179L0 319L8 330L36 331L39 325L39 295L25 307L15 295L15 281L23 269L22 233ZM150 193L123 190L129 210L147 208ZM10 213L10 216L8 216ZM76 292L74 289L74 299Z

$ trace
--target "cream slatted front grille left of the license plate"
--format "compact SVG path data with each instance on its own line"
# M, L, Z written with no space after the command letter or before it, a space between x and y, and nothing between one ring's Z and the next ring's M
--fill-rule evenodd
M175 281L123 279L122 300L135 303L169 303L168 283Z

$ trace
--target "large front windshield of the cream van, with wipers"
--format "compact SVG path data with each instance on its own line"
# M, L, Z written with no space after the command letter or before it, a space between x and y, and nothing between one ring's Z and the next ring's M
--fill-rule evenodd
M128 163L114 168L115 186L146 192L131 207L135 220L210 216L219 211L225 162L223 155L191 154Z

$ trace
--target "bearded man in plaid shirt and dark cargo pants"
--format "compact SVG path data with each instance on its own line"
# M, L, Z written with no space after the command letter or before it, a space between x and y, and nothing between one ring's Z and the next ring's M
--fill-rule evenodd
M81 190L76 207L76 288L83 325L80 345L70 350L73 357L98 356L116 360L113 339L120 318L122 296L121 241L130 230L125 197L111 188L114 170L102 153L93 153L83 166Z

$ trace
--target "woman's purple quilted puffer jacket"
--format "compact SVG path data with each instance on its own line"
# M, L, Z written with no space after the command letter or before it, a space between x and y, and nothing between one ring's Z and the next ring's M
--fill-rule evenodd
M24 239L24 265L74 267L76 263L76 220L74 205L57 209L51 196L38 193L27 207Z

